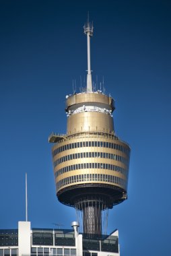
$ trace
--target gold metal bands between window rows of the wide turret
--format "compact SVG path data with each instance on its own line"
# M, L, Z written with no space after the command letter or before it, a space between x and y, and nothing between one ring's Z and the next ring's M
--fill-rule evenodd
M102 114L103 115L103 114ZM87 146L86 143L91 141L91 146ZM97 143L97 146L92 146L92 141L94 141L94 143ZM116 149L116 148L106 148L103 146L98 146L98 142L100 143L114 143L115 145L117 145L117 148L120 146L120 150ZM75 148L71 148L71 149L67 149L65 150L65 147L67 147L67 144L71 144L75 145L76 143L76 147ZM77 148L77 143L82 143L82 147ZM83 143L85 144L85 146L83 146ZM108 144L109 145L109 144ZM121 147L123 147L123 151L121 151ZM69 170L67 172L62 172L61 174L59 174L56 178L55 178L55 183L56 183L56 189L57 189L57 193L59 193L59 191L61 191L61 189L67 188L67 187L72 187L75 186L77 184L79 185L85 185L85 184L108 184L108 185L112 185L115 188L118 187L119 189L123 189L123 191L127 190L127 181L128 181L128 173L129 173L129 151L130 148L127 145L127 143L125 143L124 141L119 140L117 137L114 137L114 135L104 135L104 133L102 134L92 134L92 133L78 133L77 135L71 135L70 136L66 136L65 139L59 141L57 144L55 144L55 146L53 146L53 152L55 150L57 150L58 148L63 148L63 150L61 152L59 152L58 154L55 154L53 156L53 161L55 162L56 160L58 160L59 158L63 158L65 156L68 156L70 154L80 154L80 153L86 153L86 152L100 152L100 153L105 153L105 154L115 154L117 156L122 156L123 158L125 158L127 160L127 164L120 162L118 160L114 160L114 159L110 159L110 158L96 158L96 157L89 157L89 158L77 158L77 159L72 159L72 160L66 160L65 162L61 162L60 164L57 164L57 166L55 166L54 168L54 174L56 177L56 173L58 170L60 170L61 168L65 168L67 166L71 166L74 164L84 164L84 163L98 163L98 164L112 164L114 166L118 166L121 167L125 170L124 173L118 172L116 170L109 170L109 169L105 169L105 168L80 168L77 170ZM111 181L104 181L100 178L100 180L84 180L84 181L74 181L72 183L68 182L67 184L64 182L63 185L61 184L59 187L59 183L60 181L63 181L64 179L72 179L71 177L73 176L77 176L77 175L87 175L89 174L97 174L97 175L108 175L108 177L118 177L120 179L122 179L123 181L123 185L122 184L118 184L116 182L111 182ZM116 178L114 178L115 180ZM58 184L58 185L57 185Z

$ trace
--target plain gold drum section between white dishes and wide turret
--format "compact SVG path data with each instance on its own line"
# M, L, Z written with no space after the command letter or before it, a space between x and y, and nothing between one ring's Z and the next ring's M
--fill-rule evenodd
M96 112L83 112L71 115L67 119L67 134L82 131L111 133L114 131L113 119L110 115Z

